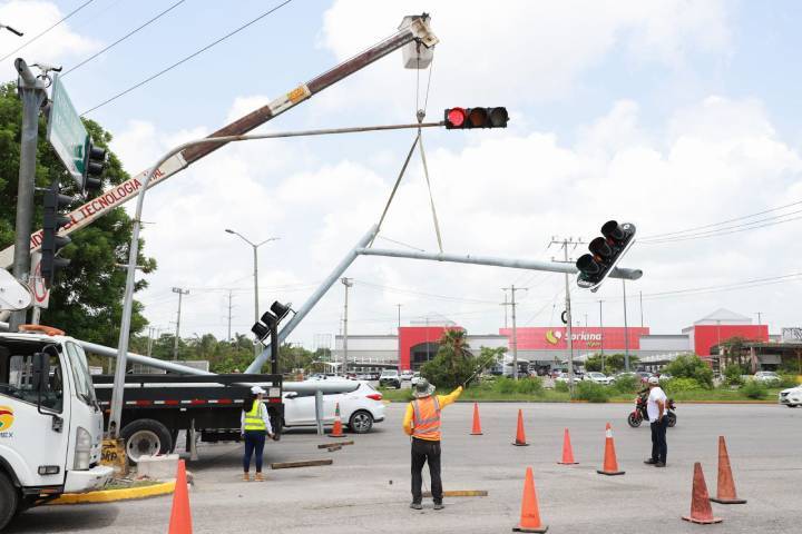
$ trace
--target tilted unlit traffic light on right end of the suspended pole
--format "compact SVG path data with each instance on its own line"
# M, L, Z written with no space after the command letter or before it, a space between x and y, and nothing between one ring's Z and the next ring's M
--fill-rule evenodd
M591 291L598 289L635 241L635 225L608 220L602 227L602 236L590 241L590 254L580 256L576 263L577 285Z

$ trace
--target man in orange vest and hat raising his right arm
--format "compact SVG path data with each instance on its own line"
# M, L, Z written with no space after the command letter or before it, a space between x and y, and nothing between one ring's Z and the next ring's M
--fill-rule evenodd
M432 500L434 510L442 510L442 481L440 479L440 411L457 400L462 386L449 395L432 395L434 386L421 378L415 384L412 395L414 400L407 405L403 429L412 436L412 504L410 508L422 510L423 464L429 463L432 481Z

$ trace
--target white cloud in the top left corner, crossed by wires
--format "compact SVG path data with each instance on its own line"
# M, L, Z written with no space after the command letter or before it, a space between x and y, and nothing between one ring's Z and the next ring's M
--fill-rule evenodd
M0 6L0 21L25 33L17 37L10 31L0 31L2 56L25 44L28 40L63 18L65 13L52 2L12 0ZM82 57L100 48L100 42L76 33L69 21L55 27L48 33L3 61L4 78L16 78L13 61L26 58L28 65L43 61L60 65L67 58ZM9 76L11 75L11 76Z

